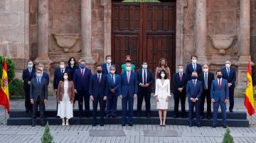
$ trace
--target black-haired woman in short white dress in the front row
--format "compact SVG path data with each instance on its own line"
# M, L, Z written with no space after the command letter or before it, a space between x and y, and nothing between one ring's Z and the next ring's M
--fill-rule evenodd
M160 126L165 126L169 97L171 97L170 80L167 79L167 74L164 69L162 69L159 74L161 79L156 79L156 93L154 96L156 96L156 108L159 109ZM164 120L162 120L163 114Z

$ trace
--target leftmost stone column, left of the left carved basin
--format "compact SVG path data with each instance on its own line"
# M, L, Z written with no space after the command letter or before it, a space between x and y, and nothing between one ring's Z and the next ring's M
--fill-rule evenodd
M36 63L45 64L48 71L50 63L48 47L49 47L49 11L48 0L38 0L38 57Z

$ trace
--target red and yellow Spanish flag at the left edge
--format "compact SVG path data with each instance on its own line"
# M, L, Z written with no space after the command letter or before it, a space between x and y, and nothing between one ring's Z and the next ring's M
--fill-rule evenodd
M6 59L4 59L3 64L3 74L1 79L1 89L0 89L0 105L4 105L7 112L10 112L9 104L9 87L8 87L8 76L7 76L7 64Z

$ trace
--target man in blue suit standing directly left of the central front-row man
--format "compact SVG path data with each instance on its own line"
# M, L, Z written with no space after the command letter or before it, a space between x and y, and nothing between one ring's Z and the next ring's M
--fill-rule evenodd
M120 76L118 74L114 74L115 72L116 68L111 66L110 74L107 74L107 118L117 117L117 96L120 95Z

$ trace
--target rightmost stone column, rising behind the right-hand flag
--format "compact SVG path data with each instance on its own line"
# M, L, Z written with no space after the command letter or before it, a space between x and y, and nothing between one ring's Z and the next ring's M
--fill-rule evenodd
M240 0L239 42L238 86L235 93L242 95L246 84L247 64L250 59L250 0Z

